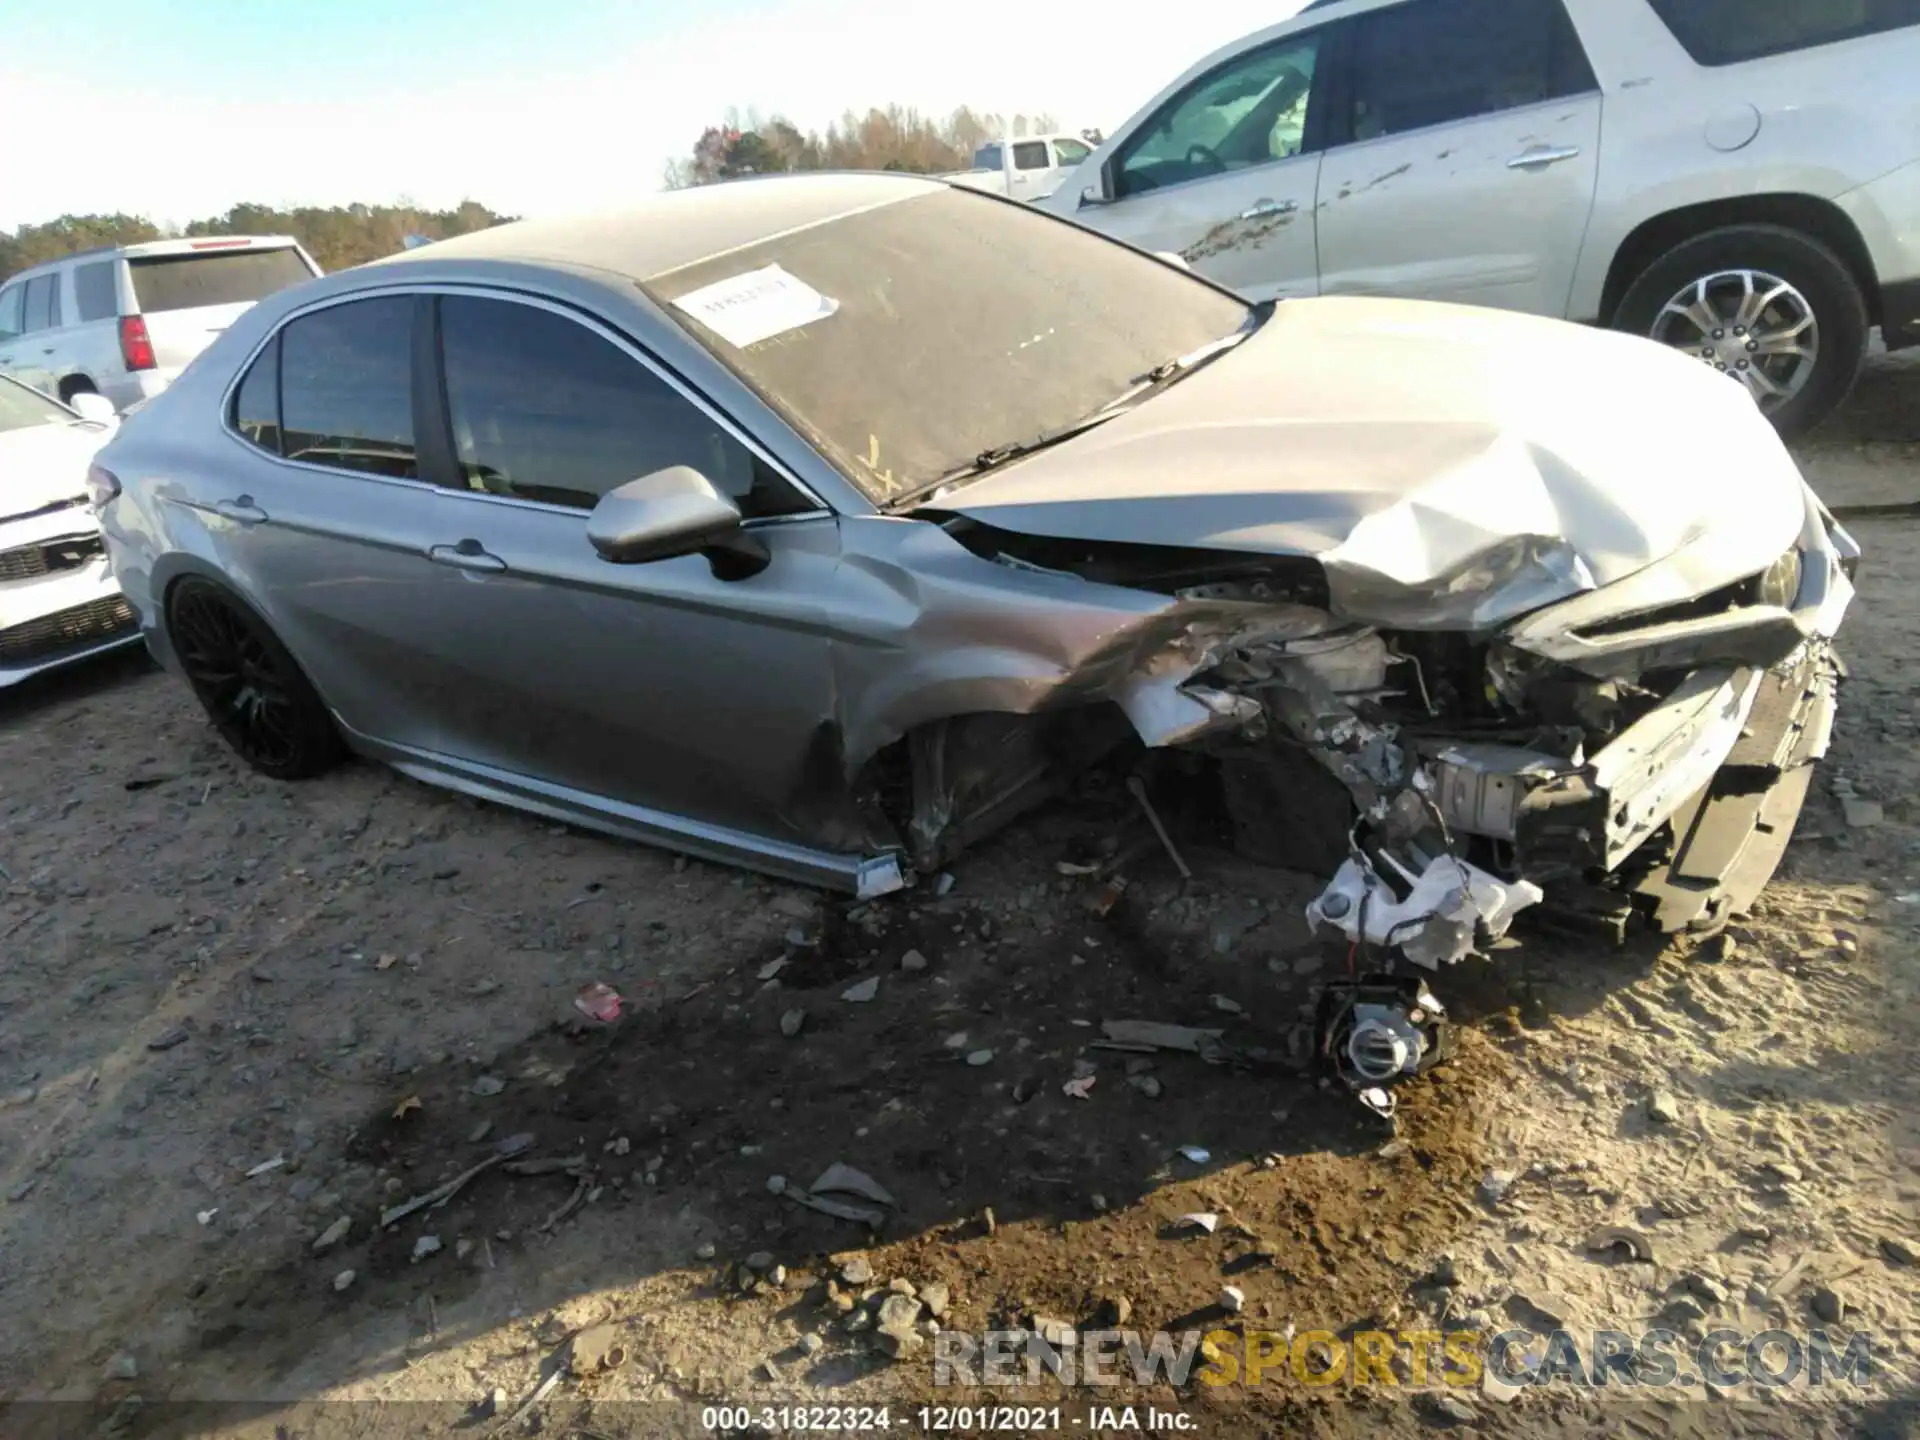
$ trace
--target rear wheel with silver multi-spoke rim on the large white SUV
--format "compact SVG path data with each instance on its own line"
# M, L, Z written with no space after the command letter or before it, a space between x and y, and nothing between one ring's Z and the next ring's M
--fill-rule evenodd
M1780 298L1749 315L1753 334L1741 336L1732 321L1741 317L1745 275L1755 278L1757 296ZM1697 301L1701 282L1711 282L1709 300L1707 309L1695 313L1711 313L1728 324L1709 330L1670 309L1668 301L1688 296ZM1780 294L1778 284L1789 286L1789 294ZM1812 317L1814 355L1761 353L1766 340L1803 346L1803 309ZM1613 313L1613 328L1649 336L1745 378L1774 428L1782 436L1799 436L1839 409L1853 390L1866 363L1870 323L1860 282L1828 246L1782 225L1730 225L1674 246L1642 271ZM1755 340L1763 332L1764 338ZM1715 349L1715 357L1707 359L1705 349ZM1759 382L1747 376L1759 376Z

